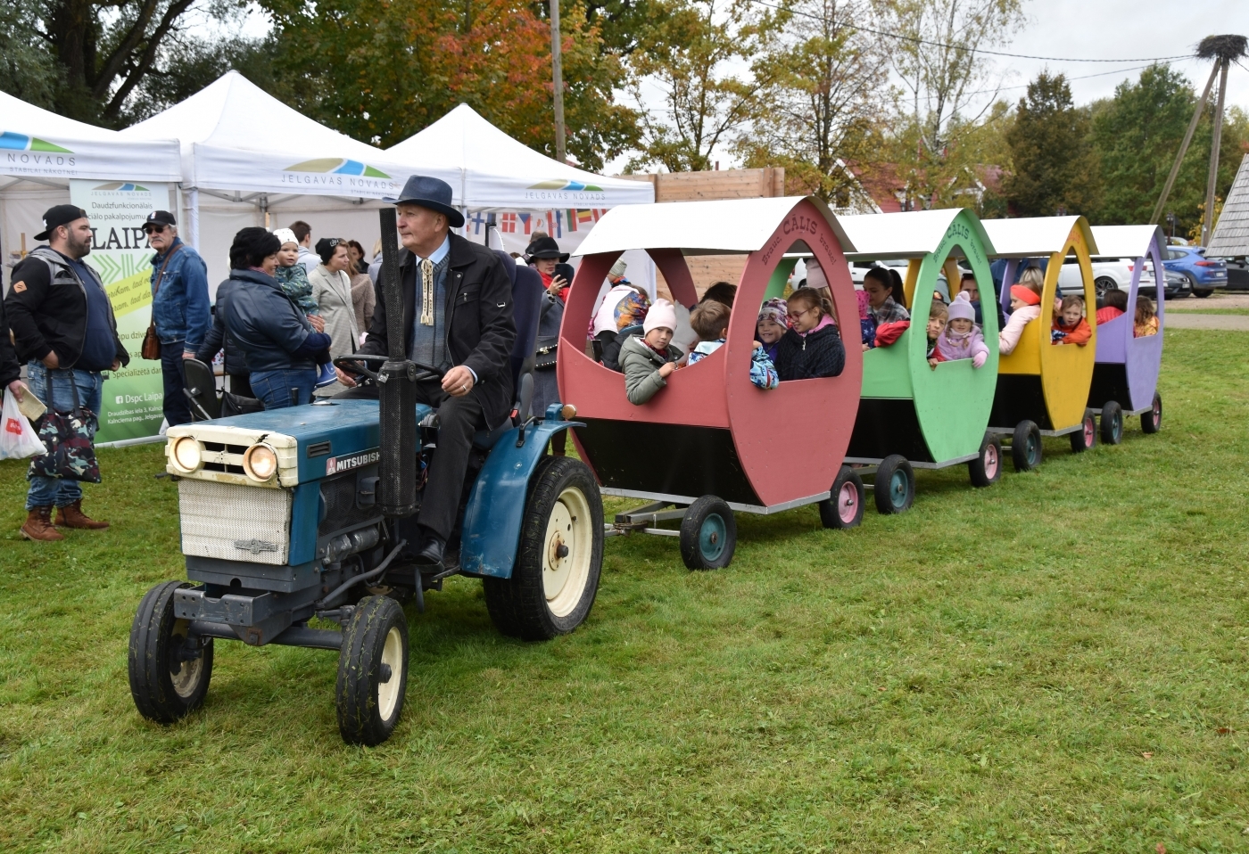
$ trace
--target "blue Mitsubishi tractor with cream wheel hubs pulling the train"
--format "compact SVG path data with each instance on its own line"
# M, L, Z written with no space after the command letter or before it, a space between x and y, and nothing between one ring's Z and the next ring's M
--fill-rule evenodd
M393 209L382 211L382 297L400 305ZM415 402L415 385L438 371L402 352L340 360L378 385L378 401L322 400L169 431L187 581L152 587L135 614L130 689L144 717L172 723L204 703L216 639L336 649L342 738L380 744L403 709L403 602L423 611L425 592L460 574L482 579L507 636L553 638L586 619L602 566L602 499L585 463L551 452L565 447L573 407L530 413L542 286L516 272L517 400L511 423L473 442L458 559L455 538L442 566L411 558L438 442L437 412Z

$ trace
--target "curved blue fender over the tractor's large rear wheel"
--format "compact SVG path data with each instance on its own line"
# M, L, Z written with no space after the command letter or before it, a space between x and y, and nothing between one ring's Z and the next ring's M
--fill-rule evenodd
M460 539L462 574L512 577L530 478L551 437L570 427L585 425L576 421L543 421L526 428L525 444L520 448L516 447L520 427L507 431L495 443L468 493Z

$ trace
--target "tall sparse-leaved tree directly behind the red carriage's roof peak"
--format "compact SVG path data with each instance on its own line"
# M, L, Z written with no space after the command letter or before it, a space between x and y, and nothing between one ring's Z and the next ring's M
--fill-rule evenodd
M848 164L874 159L878 89L888 75L879 41L854 24L858 0L799 0L756 64L767 86L736 150L743 165L784 166L786 180L834 207L867 201Z

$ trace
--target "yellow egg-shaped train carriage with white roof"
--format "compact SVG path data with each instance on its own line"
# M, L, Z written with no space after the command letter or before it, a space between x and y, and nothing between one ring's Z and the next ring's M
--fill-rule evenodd
M989 416L989 429L1010 437L1015 468L1027 471L1040 464L1042 436L1069 436L1077 452L1097 442L1097 422L1085 412L1098 343L1097 292L1089 262L1089 256L1098 251L1097 242L1083 216L985 220L983 226L993 243L992 257L1008 261L999 295L1004 312L1010 310L1010 285L1017 273L1033 262L1045 267L1040 317L1024 327L1013 352L999 355ZM1088 322L1093 327L1085 346L1050 342L1058 276L1068 256L1079 265Z

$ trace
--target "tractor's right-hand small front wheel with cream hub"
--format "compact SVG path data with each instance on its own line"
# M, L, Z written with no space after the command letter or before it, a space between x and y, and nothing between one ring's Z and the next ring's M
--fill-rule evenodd
M347 744L381 744L398 725L407 690L407 617L398 602L366 596L342 632L338 732Z

